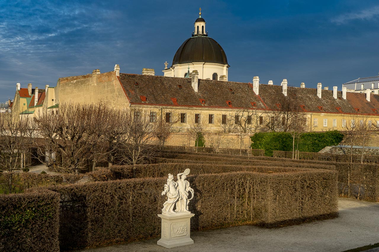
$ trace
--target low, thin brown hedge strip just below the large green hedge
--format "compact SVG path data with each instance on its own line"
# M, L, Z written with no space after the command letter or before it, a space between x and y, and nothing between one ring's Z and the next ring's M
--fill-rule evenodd
M292 151L273 151L274 157L292 158ZM319 152L299 152L300 159L306 160L322 160L333 162L350 162L350 155L348 154L330 154ZM354 163L360 163L361 155L352 155ZM365 163L379 163L378 155L363 155L363 162Z

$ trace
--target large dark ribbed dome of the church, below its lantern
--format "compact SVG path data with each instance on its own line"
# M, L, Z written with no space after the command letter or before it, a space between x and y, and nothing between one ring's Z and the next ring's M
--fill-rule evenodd
M194 36L184 41L176 51L172 65L192 62L228 64L221 45L206 36Z

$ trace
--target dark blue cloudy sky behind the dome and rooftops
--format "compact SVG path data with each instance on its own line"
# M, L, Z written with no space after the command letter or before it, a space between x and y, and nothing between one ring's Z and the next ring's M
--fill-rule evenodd
M196 3L193 3L196 2ZM56 86L94 69L163 75L199 17L227 55L229 81L338 86L379 75L377 0L0 0L0 102L16 83ZM170 66L169 65L169 66Z

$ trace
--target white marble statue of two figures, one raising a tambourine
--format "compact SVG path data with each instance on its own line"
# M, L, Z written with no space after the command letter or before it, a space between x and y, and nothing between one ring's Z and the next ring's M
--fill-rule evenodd
M161 193L162 195L167 195L167 201L163 203L163 214L189 212L188 203L193 199L194 192L189 186L189 182L185 180L188 174L189 169L186 169L183 173L178 173L176 182L174 181L174 175L168 174L167 184L164 185L164 190ZM190 199L188 199L188 192L192 194Z

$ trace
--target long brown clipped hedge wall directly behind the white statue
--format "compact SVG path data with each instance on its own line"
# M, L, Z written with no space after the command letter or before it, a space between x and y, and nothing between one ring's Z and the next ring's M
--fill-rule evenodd
M195 197L191 229L257 224L275 227L337 215L337 174L278 168L188 176ZM267 171L267 173L265 173ZM286 172L284 172L286 171ZM62 250L143 240L160 234L157 214L166 177L55 186L62 195Z

